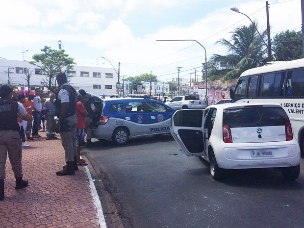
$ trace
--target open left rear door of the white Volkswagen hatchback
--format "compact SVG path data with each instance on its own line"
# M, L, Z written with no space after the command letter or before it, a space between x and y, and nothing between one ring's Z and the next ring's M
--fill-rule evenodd
M204 109L180 109L171 117L171 134L187 156L204 154Z

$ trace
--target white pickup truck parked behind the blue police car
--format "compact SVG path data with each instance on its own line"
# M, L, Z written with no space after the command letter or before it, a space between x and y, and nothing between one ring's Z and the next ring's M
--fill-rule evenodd
M168 106L174 109L185 109L185 108L206 108L207 102L205 100L198 100L194 96L177 96L171 101L166 102Z

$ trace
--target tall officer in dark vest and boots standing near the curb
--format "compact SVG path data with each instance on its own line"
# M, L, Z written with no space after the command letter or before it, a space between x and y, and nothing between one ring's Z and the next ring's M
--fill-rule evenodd
M58 176L73 175L77 166L77 148L75 142L75 133L77 126L76 102L82 99L82 96L69 85L67 76L59 73L56 76L59 86L55 101L55 115L58 117L56 133L60 133L61 144L65 152L66 166L63 170L56 172Z

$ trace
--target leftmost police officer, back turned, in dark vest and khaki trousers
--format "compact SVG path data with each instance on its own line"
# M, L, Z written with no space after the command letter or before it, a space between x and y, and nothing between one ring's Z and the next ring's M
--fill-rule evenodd
M22 179L22 146L17 116L25 121L32 121L32 117L27 114L22 104L11 101L11 97L12 88L2 85L0 87L0 200L4 198L7 152L16 177L15 189L21 189L28 184L27 180Z

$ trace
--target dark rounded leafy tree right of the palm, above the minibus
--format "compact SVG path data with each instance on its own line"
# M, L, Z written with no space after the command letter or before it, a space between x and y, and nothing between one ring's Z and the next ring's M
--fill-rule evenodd
M294 30L280 32L274 37L273 50L277 61L303 58L302 34Z

